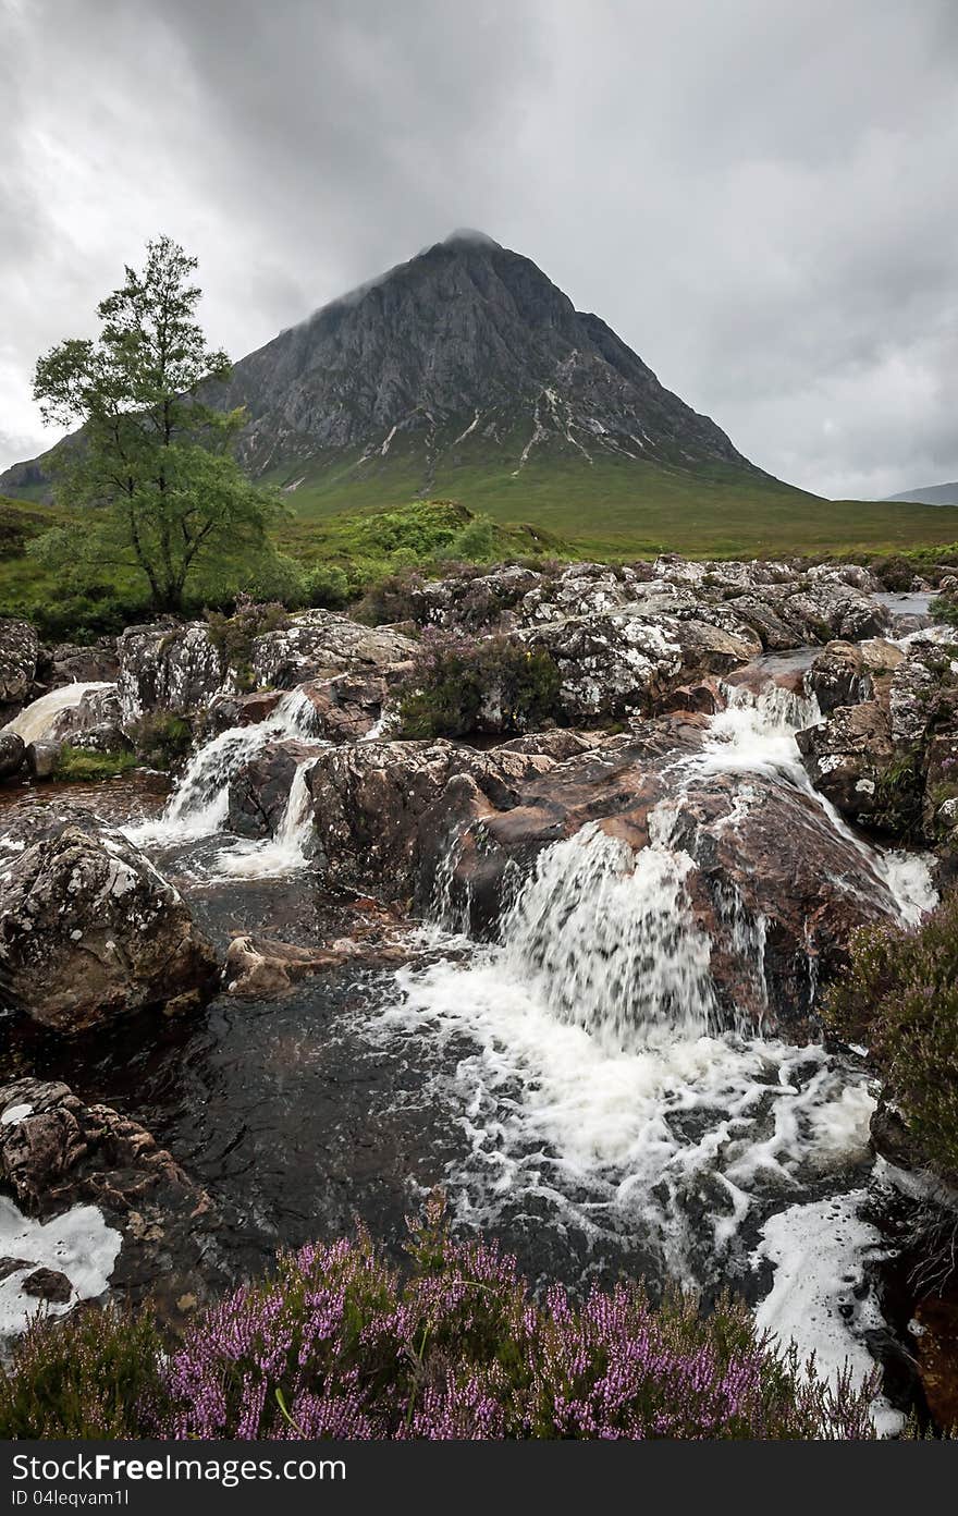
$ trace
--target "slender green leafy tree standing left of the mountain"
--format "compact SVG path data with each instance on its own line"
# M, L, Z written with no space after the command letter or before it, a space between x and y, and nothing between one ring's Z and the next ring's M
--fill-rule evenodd
M33 379L44 421L82 428L56 452L58 499L89 508L45 532L38 555L77 587L105 570L142 576L158 611L179 611L214 562L261 568L280 514L232 456L246 412L208 403L230 367L196 320L196 267L168 236L149 243L142 271L127 267L99 305L100 337L53 347Z

